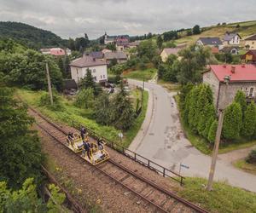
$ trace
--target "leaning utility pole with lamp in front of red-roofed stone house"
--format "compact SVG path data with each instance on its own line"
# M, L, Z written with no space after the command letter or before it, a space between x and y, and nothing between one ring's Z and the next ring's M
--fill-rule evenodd
M230 76L224 77L224 83L226 83L226 92L227 92L227 88L230 83ZM224 120L224 110L219 109L218 110L218 129L216 132L215 143L214 143L214 148L212 153L212 164L211 164L211 169L210 169L208 183L207 183L208 191L212 190L212 182L213 182L213 176L214 176L215 167L216 167L216 161L218 157L218 147L219 147L220 136L221 136L221 131L223 127L223 120Z

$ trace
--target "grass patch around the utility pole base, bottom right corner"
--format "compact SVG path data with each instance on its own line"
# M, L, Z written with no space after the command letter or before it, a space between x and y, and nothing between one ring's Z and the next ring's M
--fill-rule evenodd
M205 186L206 179L186 177L184 187L177 194L210 212L256 212L256 193L231 187L224 182L214 182L211 192L208 192Z

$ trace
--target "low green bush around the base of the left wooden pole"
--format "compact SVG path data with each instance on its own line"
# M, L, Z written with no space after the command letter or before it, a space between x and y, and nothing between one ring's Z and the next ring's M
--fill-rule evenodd
M49 94L45 93L44 95L41 96L40 101L39 101L39 106L40 107L47 107L50 110L54 111L61 111L64 107L61 104L61 98L53 92L53 105L50 104L50 99L49 99Z

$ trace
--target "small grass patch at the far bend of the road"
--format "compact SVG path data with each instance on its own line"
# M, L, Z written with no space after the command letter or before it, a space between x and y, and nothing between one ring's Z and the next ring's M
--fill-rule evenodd
M136 70L136 71L130 71L130 72L124 72L122 74L125 78L132 78L137 79L140 81L143 81L143 78L145 81L148 81L152 78L154 78L154 75L156 74L155 68L147 68L145 70Z

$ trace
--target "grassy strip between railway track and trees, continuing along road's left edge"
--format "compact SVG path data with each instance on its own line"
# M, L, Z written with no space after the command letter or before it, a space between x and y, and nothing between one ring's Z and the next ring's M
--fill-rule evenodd
M23 101L32 107L36 107L40 112L51 118L53 121L62 124L68 124L70 126L73 125L73 122L75 122L75 124L83 124L85 127L96 132L96 135L103 136L109 141L119 142L119 130L115 129L113 126L97 124L96 121L92 118L92 111L90 109L85 110L80 109L79 107L74 107L73 101L68 101L63 96L60 96L61 105L63 106L61 111L51 111L47 107L39 106L40 97L46 93L45 91L35 92L26 89L17 89L16 93ZM135 124L131 127L131 129L124 133L123 145L125 147L129 147L131 141L137 135L138 130L140 130L141 124L143 124L143 120L145 118L148 107L148 92L144 91L143 95L143 111L137 117Z

